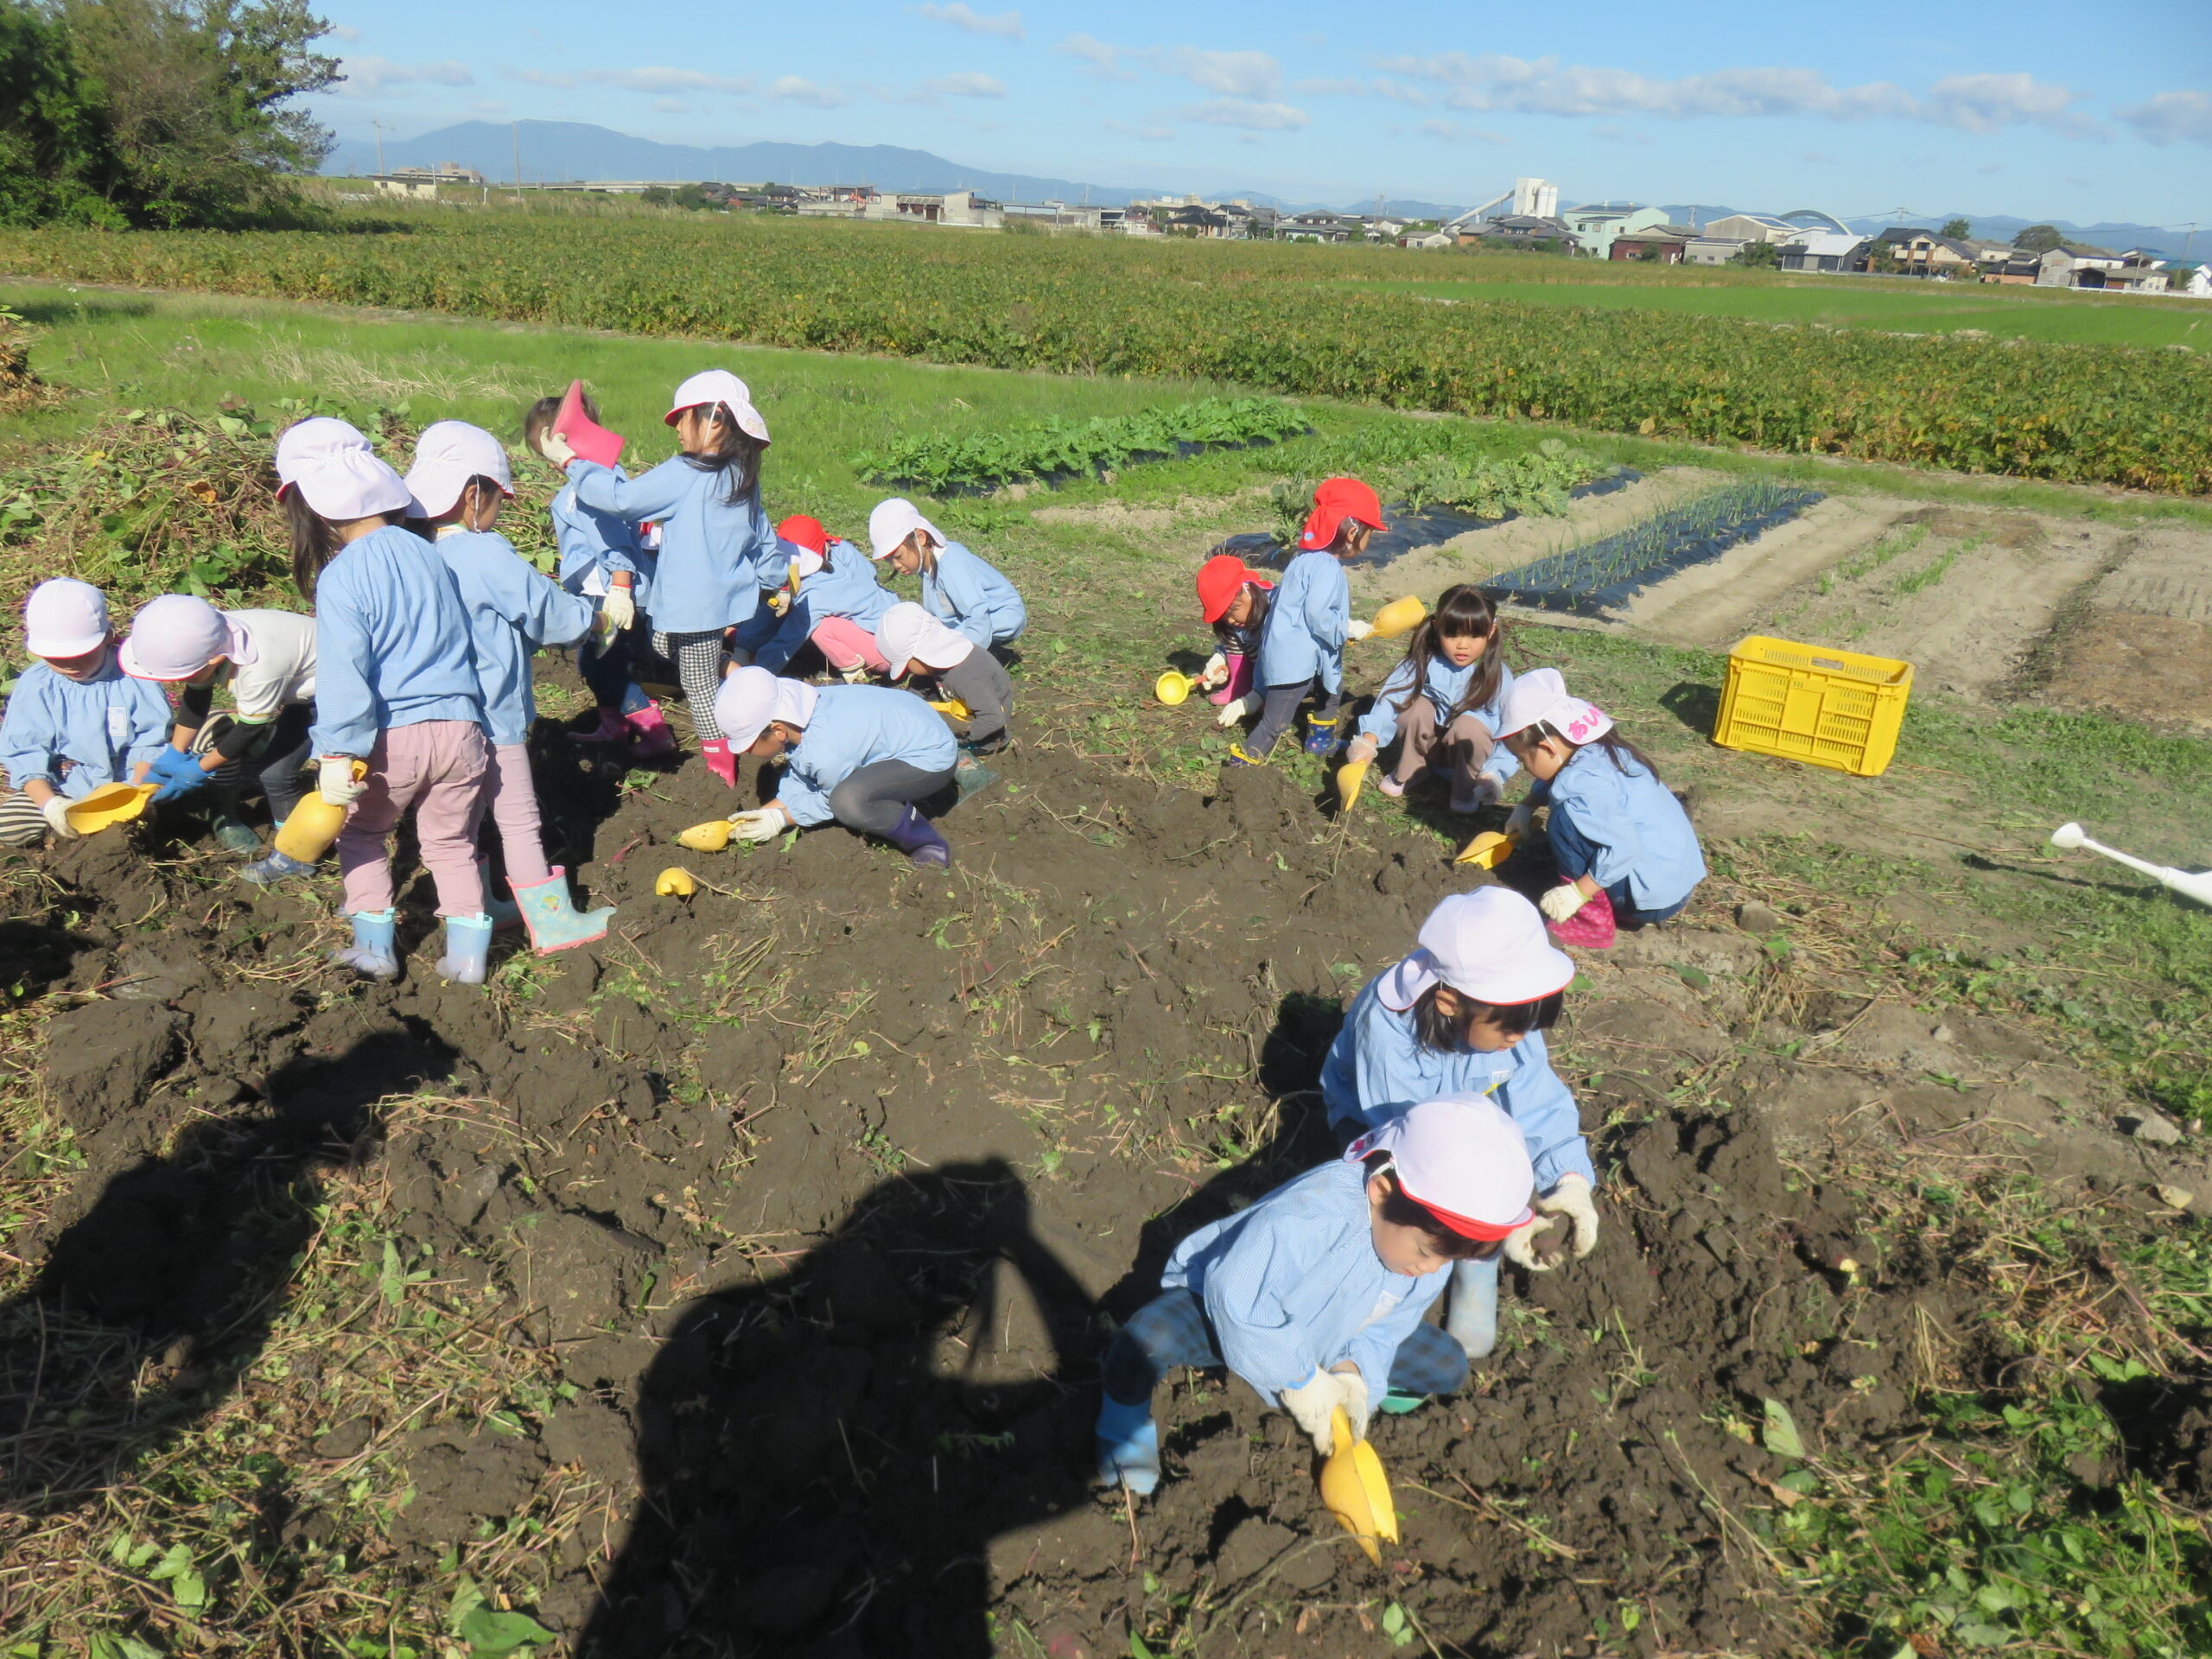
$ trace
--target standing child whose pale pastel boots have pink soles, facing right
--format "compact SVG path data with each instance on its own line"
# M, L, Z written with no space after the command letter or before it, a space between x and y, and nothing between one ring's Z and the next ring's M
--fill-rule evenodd
M546 863L538 785L531 779L531 726L538 723L531 653L573 646L595 628L604 633L615 615L542 577L493 529L500 507L513 495L513 473L500 440L482 427L467 420L425 427L416 440L407 489L469 608L476 684L491 737L487 805L500 827L507 885L531 931L531 947L538 956L551 956L602 940L606 918L615 911L580 914L568 896L568 872Z

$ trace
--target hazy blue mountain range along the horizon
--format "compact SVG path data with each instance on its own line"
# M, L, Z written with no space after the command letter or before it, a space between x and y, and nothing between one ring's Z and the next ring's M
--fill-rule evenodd
M668 184L684 179L723 179L728 184L874 184L878 190L975 190L998 201L1091 201L1104 208L1121 208L1139 197L1181 195L1164 184L1152 186L1106 186L1079 179L1046 179L1031 173L989 173L984 168L947 161L929 150L905 150L891 144L726 144L703 148L697 144L659 144L657 139L630 137L591 122L522 122L520 126L493 122L460 122L440 126L411 139L389 139L385 144L385 166L438 166L458 161L476 168L487 179L515 177L515 144L522 148L522 179L526 184L566 179L661 179ZM323 173L363 175L376 168L376 146L361 139L345 139L323 164ZM1212 195L1212 192L1210 192ZM1332 212L1374 212L1374 197L1349 204L1285 201L1265 190L1230 190L1225 197L1243 197L1285 210L1329 208ZM1398 219L1451 219L1464 208L1447 201L1407 201L1389 197L1383 212ZM1670 219L1690 223L1712 223L1736 212L1712 204L1666 204ZM1947 219L1966 219L1973 234L2011 241L2031 223L2051 223L2070 241L2088 241L2104 248L2152 248L2163 250L2172 232L2159 226L2095 223L2075 226L2066 219L2008 219L2004 215L1978 217L1933 215L1907 223L1940 228ZM1851 230L1874 234L1898 223L1885 219L1845 219ZM2205 237L2212 252L2212 232Z

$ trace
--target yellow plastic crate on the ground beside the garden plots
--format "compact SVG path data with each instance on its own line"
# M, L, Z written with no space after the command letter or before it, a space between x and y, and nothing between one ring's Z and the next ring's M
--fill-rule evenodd
M1909 661L1754 633L1728 653L1712 741L1871 779L1898 752L1911 690Z

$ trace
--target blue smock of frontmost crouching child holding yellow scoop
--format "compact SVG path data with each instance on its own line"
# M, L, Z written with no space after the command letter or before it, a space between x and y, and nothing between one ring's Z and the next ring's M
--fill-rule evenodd
M1338 1360L1380 1400L1398 1345L1449 1279L1449 1263L1418 1279L1383 1265L1367 1170L1338 1159L1192 1232L1159 1283L1206 1303L1221 1358L1267 1400Z

